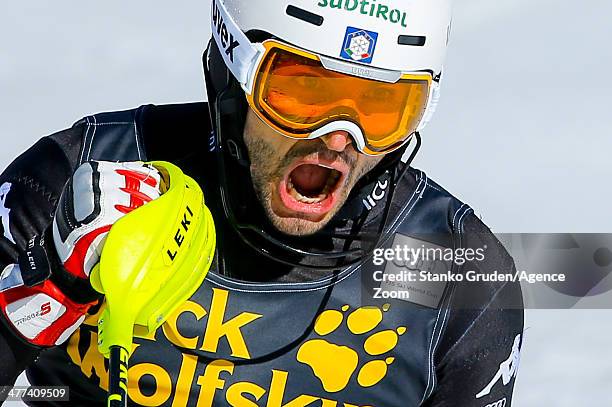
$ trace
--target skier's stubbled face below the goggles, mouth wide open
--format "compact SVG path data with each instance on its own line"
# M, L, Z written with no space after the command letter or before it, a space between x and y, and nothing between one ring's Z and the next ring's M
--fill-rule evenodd
M343 131L316 140L283 137L250 109L244 141L262 206L278 230L295 236L323 228L382 160L357 152Z

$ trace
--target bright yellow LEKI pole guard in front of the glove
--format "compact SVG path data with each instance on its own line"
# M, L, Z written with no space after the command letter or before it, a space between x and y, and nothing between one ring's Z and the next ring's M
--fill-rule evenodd
M92 286L105 295L98 348L131 354L135 326L148 334L191 297L212 263L216 232L200 186L175 165L153 161L162 174L161 197L111 228Z

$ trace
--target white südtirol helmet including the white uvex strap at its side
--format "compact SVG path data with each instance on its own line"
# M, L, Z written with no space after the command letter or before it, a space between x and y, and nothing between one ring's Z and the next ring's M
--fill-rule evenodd
M246 34L263 32L353 76L386 81L397 73L430 72L435 80L417 130L437 106L451 0L212 0L211 22L221 55L246 93L264 53Z

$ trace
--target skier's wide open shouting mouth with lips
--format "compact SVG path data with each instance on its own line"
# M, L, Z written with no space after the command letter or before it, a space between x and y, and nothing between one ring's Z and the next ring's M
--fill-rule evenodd
M324 215L337 202L348 167L339 161L301 159L288 168L279 185L280 197L292 212Z

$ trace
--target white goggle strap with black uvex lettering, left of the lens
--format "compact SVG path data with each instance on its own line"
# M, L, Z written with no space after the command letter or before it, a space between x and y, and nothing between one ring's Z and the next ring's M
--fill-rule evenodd
M250 93L253 79L251 71L257 64L263 48L255 46L242 32L238 24L227 12L219 0L212 4L212 34L219 52L232 75L240 82L243 89Z

